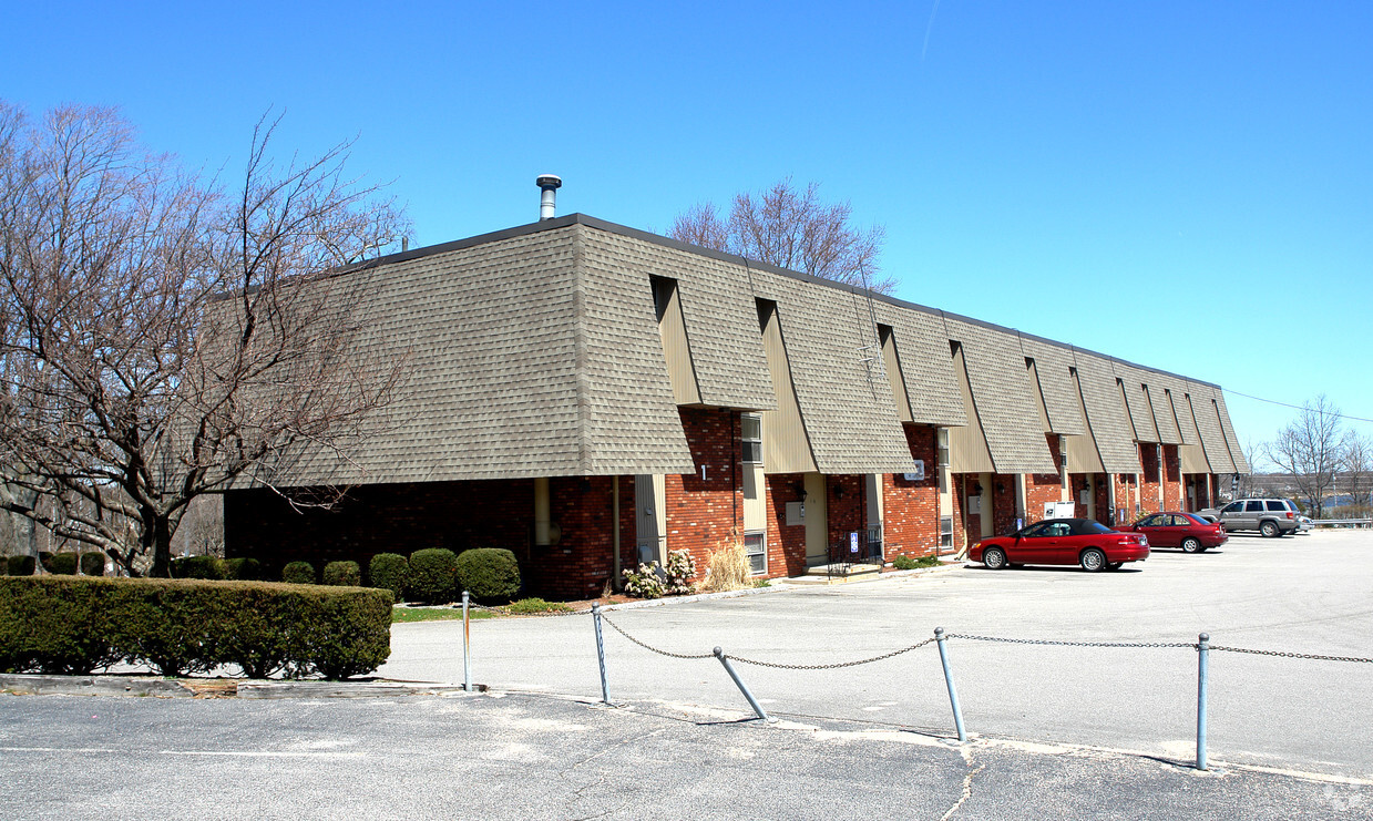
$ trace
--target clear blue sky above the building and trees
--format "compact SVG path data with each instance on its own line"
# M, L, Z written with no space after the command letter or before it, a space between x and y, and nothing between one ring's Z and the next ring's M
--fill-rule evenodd
M0 95L210 170L268 107L281 151L357 136L417 244L533 221L544 172L658 232L814 180L905 299L1373 419L1373 3L202 5L5 0Z

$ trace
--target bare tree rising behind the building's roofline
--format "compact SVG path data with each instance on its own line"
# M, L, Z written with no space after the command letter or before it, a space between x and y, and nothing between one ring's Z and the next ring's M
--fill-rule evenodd
M805 191L781 180L757 196L735 196L729 218L711 203L692 206L677 217L669 235L717 251L758 259L780 268L890 294L891 277L875 279L886 231L850 225L847 202L825 203L820 184Z

